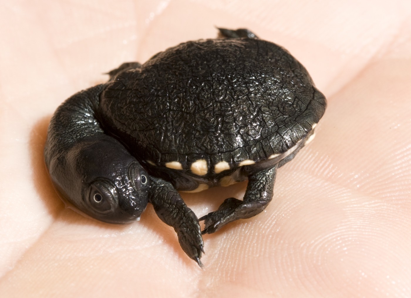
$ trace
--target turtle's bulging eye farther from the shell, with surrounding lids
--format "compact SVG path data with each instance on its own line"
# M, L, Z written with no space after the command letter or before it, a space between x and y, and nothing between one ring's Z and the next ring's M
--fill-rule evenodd
M103 182L93 182L89 188L86 202L98 214L107 214L117 207L117 194L113 186Z

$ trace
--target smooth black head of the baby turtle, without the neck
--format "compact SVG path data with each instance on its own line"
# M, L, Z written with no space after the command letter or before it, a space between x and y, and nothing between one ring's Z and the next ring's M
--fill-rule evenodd
M64 170L63 170L64 169ZM139 220L148 204L150 177L117 140L83 140L49 163L54 184L80 212L108 223Z

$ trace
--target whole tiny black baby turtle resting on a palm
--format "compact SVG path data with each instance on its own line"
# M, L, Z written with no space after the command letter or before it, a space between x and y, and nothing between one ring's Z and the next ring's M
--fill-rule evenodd
M108 74L56 109L44 148L51 180L107 223L139 220L151 203L200 266L202 235L267 207L277 169L313 139L326 109L301 63L248 29L219 28L216 39ZM178 193L247 179L242 200L227 198L200 219Z

